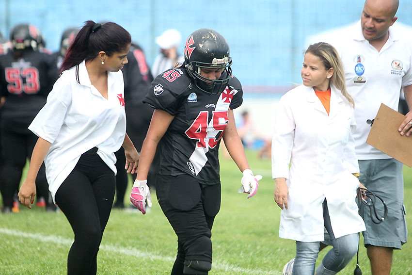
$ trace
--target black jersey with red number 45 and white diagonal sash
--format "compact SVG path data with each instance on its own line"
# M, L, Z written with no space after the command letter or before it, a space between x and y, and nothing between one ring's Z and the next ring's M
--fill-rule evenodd
M174 115L159 142L158 173L189 174L204 184L219 183L218 151L228 110L242 104L242 94L235 77L222 93L211 95L193 85L184 68L158 75L143 102Z

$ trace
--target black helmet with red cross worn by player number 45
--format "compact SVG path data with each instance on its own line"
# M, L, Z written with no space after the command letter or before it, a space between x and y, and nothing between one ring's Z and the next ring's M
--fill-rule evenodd
M219 94L232 77L232 58L226 39L211 29L192 32L185 44L185 67L194 84L209 94ZM222 68L218 80L200 74L201 68Z

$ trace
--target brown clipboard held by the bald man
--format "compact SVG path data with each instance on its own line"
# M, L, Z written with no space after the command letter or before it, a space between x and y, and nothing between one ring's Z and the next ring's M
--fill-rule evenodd
M381 104L366 143L386 155L412 167L412 136L400 135L398 129L405 116Z

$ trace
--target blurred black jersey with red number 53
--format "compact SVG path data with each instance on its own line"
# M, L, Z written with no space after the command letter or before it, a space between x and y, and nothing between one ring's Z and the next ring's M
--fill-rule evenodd
M2 113L33 119L52 88L50 70L51 58L47 53L26 49L17 60L13 51L0 56L0 94L6 97Z

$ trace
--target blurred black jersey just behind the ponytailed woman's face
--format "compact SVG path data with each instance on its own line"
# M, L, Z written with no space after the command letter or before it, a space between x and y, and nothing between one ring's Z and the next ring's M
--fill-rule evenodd
M132 44L127 53L127 61L122 69L126 104L143 104L142 100L147 95L150 83L153 81L143 50L138 45Z

